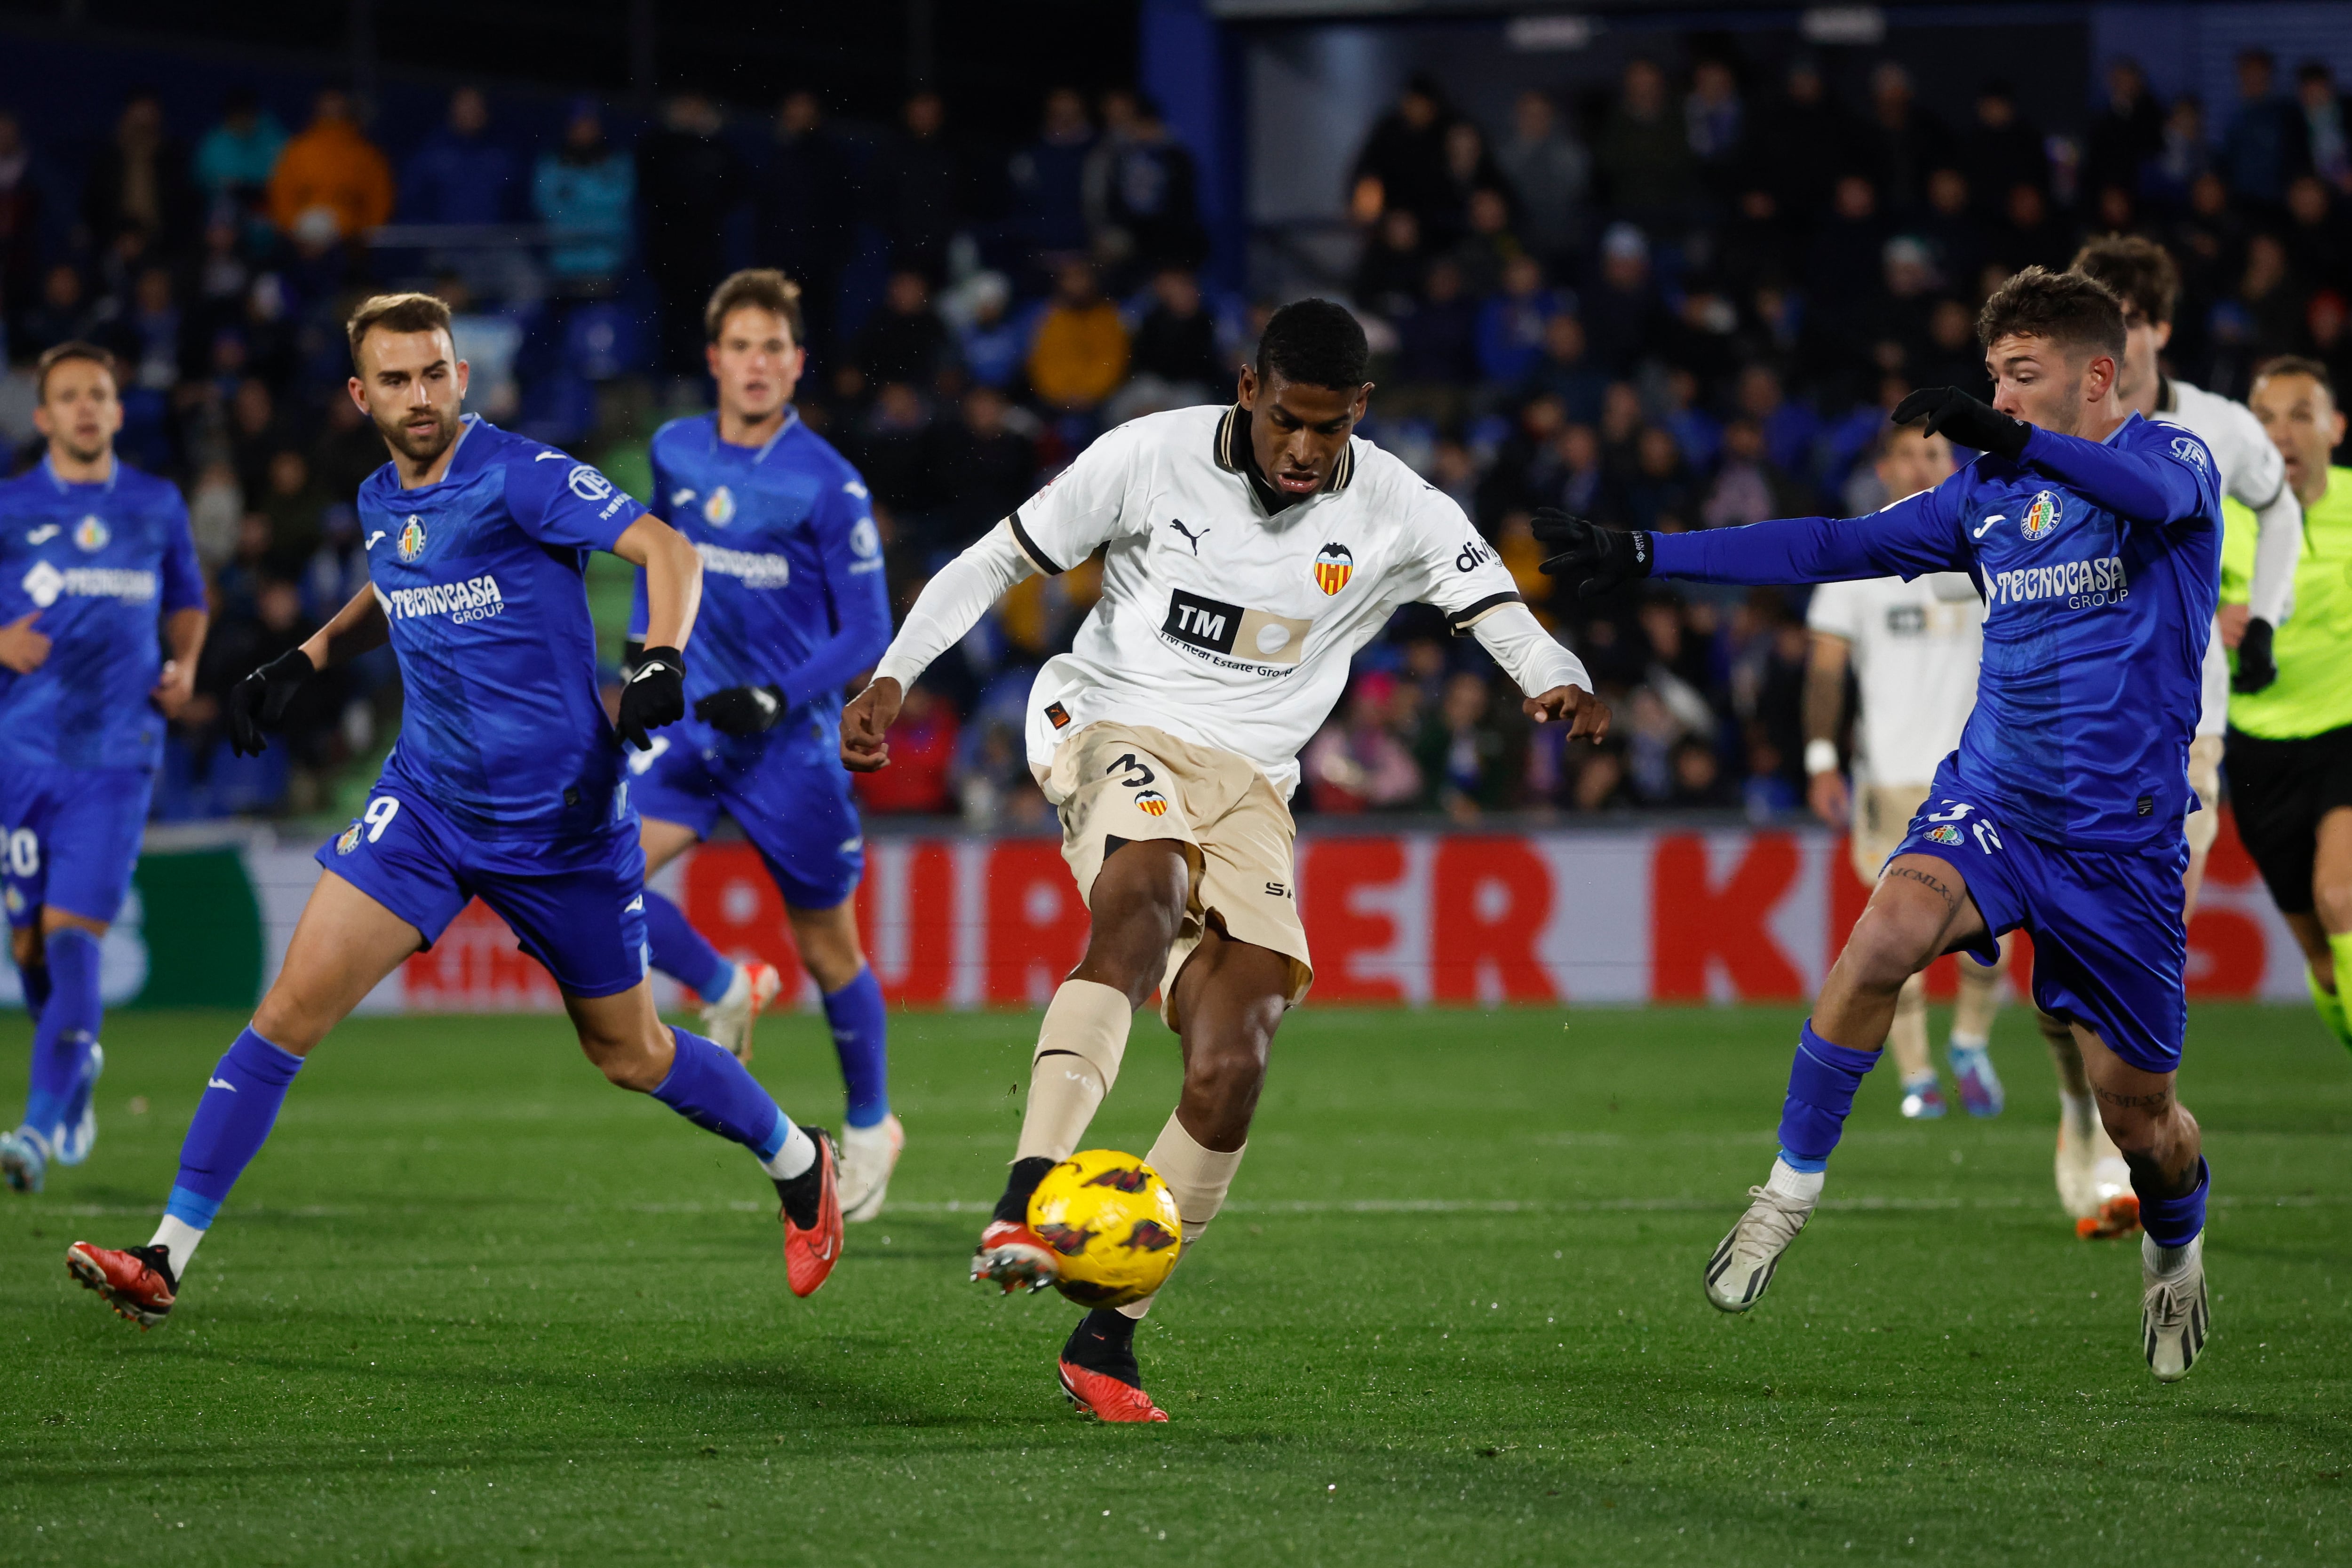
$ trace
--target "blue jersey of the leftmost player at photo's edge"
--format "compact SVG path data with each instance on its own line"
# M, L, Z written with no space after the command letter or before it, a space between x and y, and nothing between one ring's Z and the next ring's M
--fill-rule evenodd
M202 607L188 508L169 482L115 458L103 484L68 484L42 458L0 484L0 623L33 614L49 637L31 675L0 668L0 764L153 769L158 623Z

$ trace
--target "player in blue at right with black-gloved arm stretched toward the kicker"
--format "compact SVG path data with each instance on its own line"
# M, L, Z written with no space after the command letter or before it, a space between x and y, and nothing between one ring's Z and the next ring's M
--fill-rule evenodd
M1903 983L1943 952L1997 957L2034 938L2034 1001L2065 1018L2140 1197L2140 1340L2164 1382L2206 1338L2206 1164L2173 1095L2187 1027L2183 818L2190 738L2220 592L2213 456L2114 393L2124 315L2079 273L2025 268L1978 317L1987 409L1957 388L1912 393L1983 456L1872 517L1795 517L1651 536L1550 515L1545 569L1597 592L1632 576L1830 583L1969 571L1985 595L1985 661L1959 750L1936 771L1806 1020L1780 1114L1780 1157L1708 1260L1708 1300L1745 1312L1813 1215L1853 1091L1879 1060Z

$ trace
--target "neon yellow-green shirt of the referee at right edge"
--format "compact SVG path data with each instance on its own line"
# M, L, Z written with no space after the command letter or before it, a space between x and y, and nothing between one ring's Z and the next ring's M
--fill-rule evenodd
M2253 512L2223 501L2220 597L2244 604L2253 578ZM2352 468L2328 468L2328 494L2303 508L2296 614L2272 642L2279 679L2230 693L2230 726L2300 741L2352 724ZM2230 663L2237 663L2232 654Z

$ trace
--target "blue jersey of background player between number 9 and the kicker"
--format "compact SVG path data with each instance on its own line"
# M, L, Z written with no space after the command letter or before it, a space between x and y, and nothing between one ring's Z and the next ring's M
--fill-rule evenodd
M889 646L882 534L858 470L786 411L764 447L734 447L717 416L654 433L652 505L703 557L687 703L776 686L779 731L840 722L842 684ZM644 574L630 635L644 637ZM694 724L696 745L741 745Z

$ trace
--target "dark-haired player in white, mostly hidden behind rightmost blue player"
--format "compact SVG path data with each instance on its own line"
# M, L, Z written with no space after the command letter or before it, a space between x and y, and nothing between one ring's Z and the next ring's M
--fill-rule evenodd
M2260 691L2279 677L2270 656L2272 632L2286 623L2296 592L2296 555L2303 548L2303 503L2286 482L2286 458L2263 433L2263 421L2241 402L2176 381L2159 362L2173 336L2173 303L2180 296L2180 270L2154 240L2140 235L2105 235L2074 254L2074 270L2098 282L2124 303L2124 364L2114 376L2114 395L2140 416L2173 423L2197 435L2220 470L2223 496L2246 505L2260 527L2253 552L2246 630L2237 644L2237 689ZM2197 738L2190 743L2190 785L2201 811L2187 820L2190 870L2180 879L2183 917L2197 914L2197 891L2204 886L2206 856L2220 832L2220 750L2230 726L2230 661L2220 623L2206 639L2204 710ZM2058 1067L2058 1199L2074 1215L2074 1234L2084 1239L2129 1237L2140 1227L2140 1199L2131 1192L2131 1173L2107 1140L2091 1105L2091 1084L2082 1070L2074 1032L2042 1013L2042 1037Z

